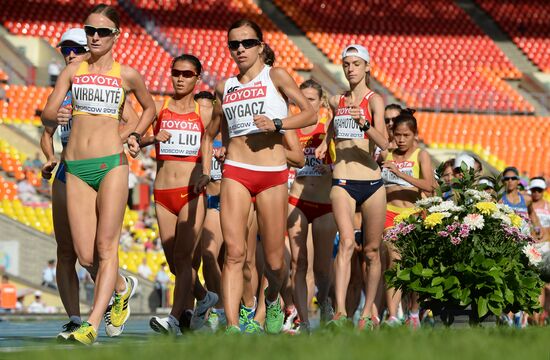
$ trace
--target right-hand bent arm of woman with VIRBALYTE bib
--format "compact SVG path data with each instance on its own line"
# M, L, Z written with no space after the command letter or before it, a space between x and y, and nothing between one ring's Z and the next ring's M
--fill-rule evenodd
M134 131L138 134L143 134L155 119L155 102L149 91L147 91L143 77L135 69L129 66L122 66L121 76L127 84L128 89L134 93L143 108L143 113ZM137 154L139 152L139 143L134 136L128 138L128 147L131 153Z

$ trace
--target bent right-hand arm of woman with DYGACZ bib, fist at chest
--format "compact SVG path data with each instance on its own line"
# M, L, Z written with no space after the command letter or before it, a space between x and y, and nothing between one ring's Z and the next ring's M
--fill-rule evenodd
M317 114L309 103L309 100L304 96L294 79L288 74L285 69L272 68L269 71L273 84L281 94L284 94L292 103L300 108L300 112L295 115L290 115L282 120L282 129L300 129L317 122ZM273 119L267 119L264 115L254 116L256 126L265 131L275 131Z

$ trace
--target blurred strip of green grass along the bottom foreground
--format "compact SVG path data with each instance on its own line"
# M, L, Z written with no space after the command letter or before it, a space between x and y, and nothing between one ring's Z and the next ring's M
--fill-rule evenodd
M311 336L151 336L92 347L52 346L0 359L550 359L550 328L382 329ZM53 345L53 343L52 343Z

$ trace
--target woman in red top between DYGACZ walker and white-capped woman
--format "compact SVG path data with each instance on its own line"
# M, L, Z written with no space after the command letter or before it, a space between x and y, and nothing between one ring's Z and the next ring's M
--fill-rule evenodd
M313 80L307 80L300 85L300 89L319 114L323 101L321 85ZM327 128L326 118L320 118L317 124L296 131L304 149L306 165L296 170L296 180L290 188L288 197L288 237L292 254L294 302L301 321L299 331L306 332L309 331L306 283L309 224L313 234L313 271L318 288L317 301L320 304L321 321L327 322L333 316L332 305L328 299L332 247L336 235L336 223L329 197L332 172L330 161L315 157L315 149L323 142Z

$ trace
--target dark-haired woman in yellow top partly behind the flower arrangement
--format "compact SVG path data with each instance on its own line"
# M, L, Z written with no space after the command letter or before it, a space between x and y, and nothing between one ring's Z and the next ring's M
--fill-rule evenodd
M387 110L386 110L387 112ZM413 208L414 203L420 199L422 192L431 193L433 191L433 169L430 156L424 150L418 147L415 140L418 135L418 126L412 111L404 109L401 114L393 118L392 126L393 140L396 148L388 151L384 156L382 165L382 179L386 187L386 224L385 229L394 226L394 219L397 215L407 209ZM399 254L395 252L392 244L386 243L387 266L399 259ZM383 269L386 270L386 269ZM383 279L381 278L381 281ZM411 294L411 296L414 296ZM386 306L388 308L387 324L395 326L401 324L397 318L397 308L401 301L401 291L387 289ZM412 299L410 324L413 328L420 326L418 318L417 303Z

